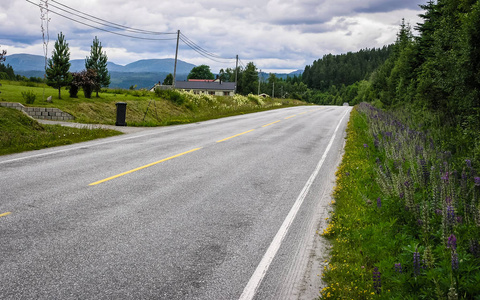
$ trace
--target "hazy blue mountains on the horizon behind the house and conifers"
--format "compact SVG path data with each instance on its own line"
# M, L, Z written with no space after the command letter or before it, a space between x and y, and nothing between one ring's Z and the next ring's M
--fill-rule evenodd
M85 69L84 59L70 60L71 72L79 72ZM6 57L4 64L12 66L15 74L26 77L43 77L45 58L41 55L12 54ZM162 82L169 73L173 73L175 60L167 59L144 59L126 66L108 62L108 71L111 76L111 88L128 89L131 86L137 88L151 88L155 83ZM195 65L178 60L177 80L186 80Z

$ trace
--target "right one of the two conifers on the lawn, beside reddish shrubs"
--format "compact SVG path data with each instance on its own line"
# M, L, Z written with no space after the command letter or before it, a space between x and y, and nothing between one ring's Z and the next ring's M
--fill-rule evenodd
M101 87L108 87L110 85L110 74L107 69L107 53L102 52L102 43L97 37L93 39L93 44L90 48L90 57L85 59L85 68L95 70L97 73L97 82L95 92L100 91Z

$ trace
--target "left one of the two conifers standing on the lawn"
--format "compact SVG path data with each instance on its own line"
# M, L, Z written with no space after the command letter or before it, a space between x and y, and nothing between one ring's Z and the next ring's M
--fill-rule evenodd
M70 84L72 75L70 69L70 52L68 43L63 33L58 34L58 40L52 52L52 58L48 60L47 85L58 89L58 99L61 99L61 89Z

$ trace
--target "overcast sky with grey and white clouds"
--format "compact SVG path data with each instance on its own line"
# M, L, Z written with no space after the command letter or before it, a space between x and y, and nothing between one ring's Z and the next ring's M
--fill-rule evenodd
M30 0L35 4L47 0ZM3 1L2 1L3 2ZM304 69L323 55L378 48L395 41L402 18L420 22L427 0L48 0L48 56L61 31L71 59L84 59L98 36L108 60L125 65L140 59L174 58L176 32L205 50L211 60L180 41L178 58L209 65L213 72L252 61L267 72ZM0 49L10 54L43 55L40 8L8 0L0 11ZM55 7L56 6L56 7ZM129 28L169 35L139 34L73 15L81 13ZM68 10L68 12L60 9ZM86 23L80 24L64 18ZM88 17L91 18L91 17ZM103 21L102 21L103 22ZM103 29L103 30L102 30ZM108 31L114 31L113 34ZM128 36L125 36L128 35ZM137 39L135 37L157 39ZM158 39L169 40L158 40ZM193 45L193 47L196 47ZM196 48L199 50L198 48ZM220 58L225 59L220 59ZM8 61L7 61L8 63Z

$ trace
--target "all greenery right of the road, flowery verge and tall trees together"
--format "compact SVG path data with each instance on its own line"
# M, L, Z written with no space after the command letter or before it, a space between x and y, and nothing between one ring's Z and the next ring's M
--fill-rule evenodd
M322 299L480 299L480 2L421 8L350 86Z

